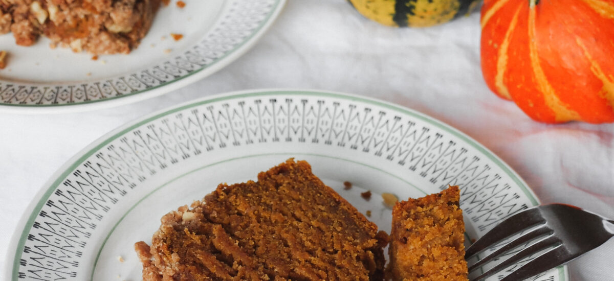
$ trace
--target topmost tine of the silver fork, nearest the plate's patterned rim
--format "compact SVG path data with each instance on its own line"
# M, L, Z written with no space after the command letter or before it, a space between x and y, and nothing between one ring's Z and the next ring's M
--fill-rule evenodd
M527 209L518 214L503 220L499 225L492 228L488 233L484 234L478 241L473 243L465 250L465 260L468 260L476 253L480 253L484 249L491 247L496 242L499 242L513 234L537 223L544 223L545 219L540 215L540 210L535 208Z

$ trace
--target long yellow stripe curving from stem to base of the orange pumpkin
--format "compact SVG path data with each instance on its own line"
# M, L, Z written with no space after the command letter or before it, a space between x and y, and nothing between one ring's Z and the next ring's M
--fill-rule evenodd
M554 119L559 122L580 120L578 112L569 109L561 99L556 95L554 88L548 82L546 74L543 72L542 65L540 63L539 55L537 53L537 42L535 42L535 2L530 3L529 18L528 18L528 32L529 32L529 58L533 69L535 82L537 82L538 90L542 92L543 99L553 112Z

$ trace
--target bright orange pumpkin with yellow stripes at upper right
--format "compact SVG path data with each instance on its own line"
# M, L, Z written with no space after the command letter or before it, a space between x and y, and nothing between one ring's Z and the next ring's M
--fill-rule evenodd
M488 87L537 121L614 121L614 0L485 0Z

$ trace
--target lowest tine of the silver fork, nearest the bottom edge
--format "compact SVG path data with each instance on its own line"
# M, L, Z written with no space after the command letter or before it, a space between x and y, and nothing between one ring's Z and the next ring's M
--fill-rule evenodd
M543 253L543 255L538 256L529 263L524 264L519 269L511 274L505 276L500 281L516 281L516 280L524 280L531 276L540 274L544 271L545 268L551 269L559 266L561 264L567 263L567 261L572 260L571 256L567 256L567 252L562 245Z

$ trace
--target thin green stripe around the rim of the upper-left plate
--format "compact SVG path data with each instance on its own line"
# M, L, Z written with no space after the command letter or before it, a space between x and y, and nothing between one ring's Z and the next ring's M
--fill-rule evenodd
M273 7L271 7L271 11L268 13L268 15L266 15L266 18L262 20L262 22L260 23L260 25L258 25L258 27L254 30L254 32L252 34L249 34L249 36L246 37L245 40L243 40L243 42L241 42L241 44L238 44L235 46L235 48L233 48L232 50L230 50L229 52L225 53L223 56L220 56L219 58L216 58L216 60L213 60L210 64L207 64L204 67L201 67L200 69L196 69L193 72L190 72L186 75L183 75L181 77L178 77L177 79L171 80L169 82L166 83L162 83L160 85L151 87L151 88L147 88L145 90L141 90L141 91L135 91L134 93L128 93L128 94L122 94L121 96L112 96L110 98L106 98L106 99L96 99L96 100L90 100L90 101L84 101L84 102L75 102L75 103L69 103L69 104L7 104L7 103L0 103L1 106L13 106L13 107L60 107L60 106L79 106L81 104L92 104L92 103L96 103L96 102L102 102L102 101L111 101L113 99L119 99L119 98L126 98L128 96L134 96L135 94L140 94L140 93L144 93L147 91L152 91L155 90L157 88L161 88L161 87L165 87L171 83L177 82L179 80L184 80L187 77L190 77L194 74L197 74L201 71L203 71L204 69L208 69L211 66L215 66L219 61L223 60L223 58L226 58L227 56L230 56L232 54L235 53L236 50L238 50L239 48L243 47L243 45L247 44L247 42L250 42L250 40L256 36L256 34L260 33L260 31L262 30L263 26L265 26L266 24L269 23L270 18L273 16L273 14L276 12L276 10L279 9L279 4L281 4L283 1L283 3L286 2L286 0L275 0L275 4L273 4Z

